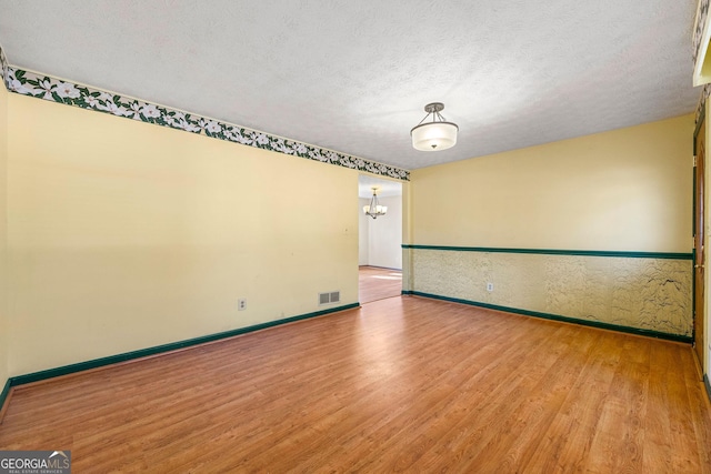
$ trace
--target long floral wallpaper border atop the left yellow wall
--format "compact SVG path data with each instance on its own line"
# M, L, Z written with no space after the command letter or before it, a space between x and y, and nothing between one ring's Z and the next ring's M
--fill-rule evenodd
M220 122L189 112L181 112L151 102L102 91L100 89L64 82L51 75L26 71L7 63L0 48L0 61L6 87L11 92L50 100L67 105L80 107L97 112L111 113L161 127L204 134L278 153L291 154L308 160L336 164L382 177L410 180L410 172L388 164L326 150L294 140L272 137L268 133Z

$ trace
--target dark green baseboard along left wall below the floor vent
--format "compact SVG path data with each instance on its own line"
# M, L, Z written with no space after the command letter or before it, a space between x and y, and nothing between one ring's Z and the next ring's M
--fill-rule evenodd
M204 344L207 342L219 341L221 339L233 337L236 335L246 334L254 331L260 331L267 327L278 326L281 324L292 323L294 321L308 320L310 317L322 316L330 313L337 313L340 311L352 310L359 307L360 303L351 303L343 306L331 307L329 310L317 311L314 313L300 314L298 316L286 317L283 320L269 321L267 323L256 324L252 326L240 327L232 331L226 331L217 334L203 335L200 337L189 339L184 341L171 342L169 344L157 345L153 347L141 349L132 352L124 352L122 354L109 355L107 357L94 359L91 361L79 362L77 364L63 365L56 369L49 369L46 371L33 372L26 375L17 375L10 377L6 384L2 393L0 394L0 407L4 406L4 402L10 393L10 389L18 385L23 385L31 382L39 382L48 379L53 379L61 375L73 374L77 372L88 371L91 369L102 367L106 365L117 364L119 362L131 361L134 359L147 357L150 355L157 355L166 352L176 351L179 349L186 349L193 345Z

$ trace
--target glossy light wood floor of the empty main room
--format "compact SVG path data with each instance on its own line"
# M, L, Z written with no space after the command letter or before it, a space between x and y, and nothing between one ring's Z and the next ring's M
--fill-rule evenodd
M709 473L689 345L413 296L21 387L74 472Z

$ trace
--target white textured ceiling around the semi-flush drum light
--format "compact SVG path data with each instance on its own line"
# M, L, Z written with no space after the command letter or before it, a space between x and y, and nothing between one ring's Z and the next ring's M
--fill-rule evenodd
M695 0L0 0L11 64L404 169L690 113ZM460 128L420 152L428 102Z

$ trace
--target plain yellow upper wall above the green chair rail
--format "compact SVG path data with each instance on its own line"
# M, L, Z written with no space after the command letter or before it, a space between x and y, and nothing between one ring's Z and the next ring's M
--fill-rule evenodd
M693 115L414 170L413 243L691 251Z

